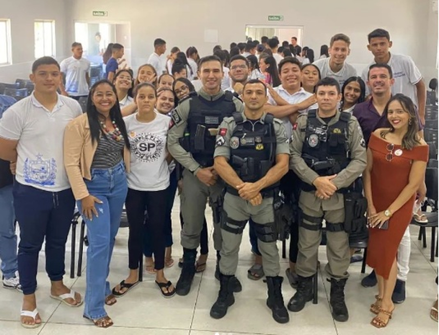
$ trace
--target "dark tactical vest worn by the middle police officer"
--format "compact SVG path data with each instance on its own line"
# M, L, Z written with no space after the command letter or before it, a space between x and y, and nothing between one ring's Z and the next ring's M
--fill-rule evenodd
M265 176L276 163L276 133L273 115L266 114L264 123L259 121L252 125L244 121L241 113L234 113L235 129L230 136L230 166L236 171L243 182L254 183ZM270 190L279 183L264 188L262 195L273 196ZM227 191L238 195L238 191L227 186Z

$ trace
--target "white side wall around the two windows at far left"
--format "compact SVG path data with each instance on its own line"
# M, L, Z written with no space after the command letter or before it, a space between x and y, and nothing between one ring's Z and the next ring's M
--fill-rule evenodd
M26 79L35 60L34 20L55 20L56 58L68 55L73 41L65 35L66 8L60 0L1 0L0 18L11 20L12 65L0 66L0 82Z

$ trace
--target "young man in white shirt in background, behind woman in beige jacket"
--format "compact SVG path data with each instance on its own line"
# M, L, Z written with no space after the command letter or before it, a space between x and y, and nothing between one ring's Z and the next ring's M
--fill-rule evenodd
M61 73L65 75L65 87L61 80L61 94L79 100L81 96L88 96L90 85L90 61L82 57L81 43L72 44L73 56L64 59L61 64Z

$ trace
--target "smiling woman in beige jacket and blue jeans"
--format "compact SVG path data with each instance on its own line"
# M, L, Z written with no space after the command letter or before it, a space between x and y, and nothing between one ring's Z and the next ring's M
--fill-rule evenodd
M90 243L83 315L100 328L113 325L104 304L116 298L106 279L127 194L130 147L116 88L100 80L90 90L87 111L64 133L64 164Z

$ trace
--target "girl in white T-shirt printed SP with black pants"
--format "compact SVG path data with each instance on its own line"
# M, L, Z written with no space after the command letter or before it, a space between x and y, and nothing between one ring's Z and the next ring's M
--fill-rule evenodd
M139 259L142 257L144 213L148 212L147 232L151 234L156 284L165 298L175 295L174 285L165 278L164 224L169 186L168 164L172 157L166 150L171 118L155 112L156 89L150 83L136 87L138 112L124 118L131 143L130 172L127 173L128 194L125 201L130 225L128 237L129 276L113 289L122 296L139 283Z

